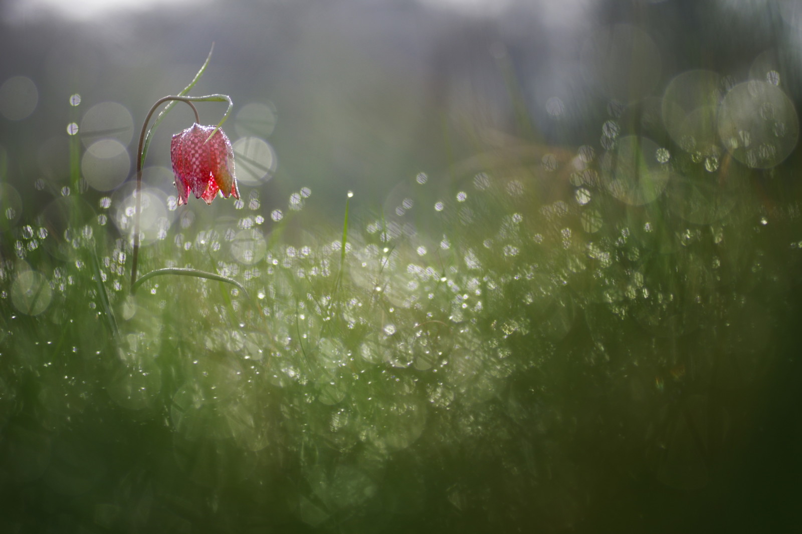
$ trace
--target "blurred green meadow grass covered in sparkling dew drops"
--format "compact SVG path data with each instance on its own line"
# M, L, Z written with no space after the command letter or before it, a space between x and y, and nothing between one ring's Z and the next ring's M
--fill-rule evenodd
M472 130L471 156L381 208L343 188L334 222L302 183L263 208L257 137L235 140L231 206L178 207L152 168L168 187L142 193L140 272L245 291L129 293L113 124L71 123L71 181L37 187L38 210L2 152L0 532L790 532L792 73L761 56L656 87L646 33L591 39L607 98L588 141L518 113L515 136ZM610 67L622 50L638 75ZM566 102L545 103L557 130Z

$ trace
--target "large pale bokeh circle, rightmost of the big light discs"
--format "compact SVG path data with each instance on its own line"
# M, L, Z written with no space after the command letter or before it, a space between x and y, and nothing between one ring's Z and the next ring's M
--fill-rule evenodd
M799 140L799 119L785 93L752 80L727 93L719 110L719 136L732 156L751 168L772 168Z

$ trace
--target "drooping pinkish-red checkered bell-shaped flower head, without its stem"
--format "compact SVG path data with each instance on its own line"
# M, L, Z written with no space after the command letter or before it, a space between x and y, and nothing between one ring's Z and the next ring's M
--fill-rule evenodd
M195 123L172 136L170 159L172 172L176 173L178 205L187 203L189 192L195 193L195 198L203 198L206 204L212 204L218 191L226 198L240 197L229 138L217 130L212 139L206 140L214 128Z

